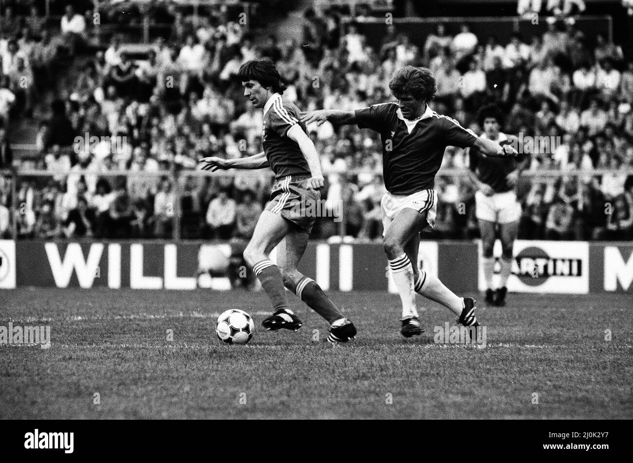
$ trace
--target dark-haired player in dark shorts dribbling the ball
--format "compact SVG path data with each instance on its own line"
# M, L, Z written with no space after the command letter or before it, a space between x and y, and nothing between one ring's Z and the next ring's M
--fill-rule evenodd
M200 162L203 170L270 167L275 173L270 201L244 250L244 259L274 308L262 325L267 330L301 328L301 320L285 297L285 286L330 323L329 342L348 342L356 335L354 324L314 280L297 269L316 219L316 214L308 212L320 210L323 175L315 146L305 125L298 120L299 109L282 99L285 86L270 58L246 61L237 77L242 81L244 96L253 106L263 109L264 151L241 159L204 157ZM279 266L269 257L277 245Z

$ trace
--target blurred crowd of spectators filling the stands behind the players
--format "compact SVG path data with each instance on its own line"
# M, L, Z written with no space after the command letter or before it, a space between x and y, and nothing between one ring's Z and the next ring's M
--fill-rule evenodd
M277 63L284 97L306 111L391 101L396 68L427 66L437 80L431 106L438 113L481 133L477 109L495 102L507 115L504 132L557 140L529 154L528 171L543 175L518 183L520 238L633 238L633 56L607 32L587 35L577 26L582 1L548 2L560 8L544 11L543 33L500 40L485 27L448 22L412 40L394 19L378 44L369 43L367 18L384 18L384 4L352 15L339 3L304 8L302 34L287 38L251 27L254 18L241 16L239 3L196 6L194 14L166 1L150 12L105 2L103 23L115 27L103 44L91 1L57 0L46 17L39 2L3 2L0 169L23 173L15 184L0 176L0 238L15 230L20 238L248 239L270 173L188 173L199 157L261 151L261 113L234 77L241 63L262 56ZM540 9L536 3L520 2L519 13ZM143 18L169 27L149 43L121 32ZM36 127L28 156L11 149L21 121ZM342 211L340 223L319 219L312 237L380 239L379 137L329 123L308 130L327 180L322 198L330 215ZM454 175L466 168L465 152L449 148L429 237L477 236L474 190ZM574 175L594 168L601 173ZM109 173L120 170L137 175Z

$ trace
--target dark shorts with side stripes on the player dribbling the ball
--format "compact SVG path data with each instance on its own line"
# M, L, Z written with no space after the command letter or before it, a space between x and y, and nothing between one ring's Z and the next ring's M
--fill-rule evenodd
M286 176L275 182L266 211L291 221L299 230L310 233L320 213L321 194L307 188L309 175Z

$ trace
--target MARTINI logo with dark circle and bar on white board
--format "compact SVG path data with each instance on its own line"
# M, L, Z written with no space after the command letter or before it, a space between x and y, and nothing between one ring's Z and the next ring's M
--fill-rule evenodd
M518 253L512 273L529 286L539 286L552 276L582 276L582 259L549 257L539 247L530 246Z

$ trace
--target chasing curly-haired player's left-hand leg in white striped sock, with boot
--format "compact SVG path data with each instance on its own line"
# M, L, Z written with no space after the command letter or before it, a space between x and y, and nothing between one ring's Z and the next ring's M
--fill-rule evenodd
M420 214L415 209L405 208L396 214L385 230L385 254L389 259L391 276L396 283L402 302L401 333L405 337L422 334L422 328L420 328L415 304L413 264L404 252L404 246L410 242L411 238L418 235L425 225L425 214Z

